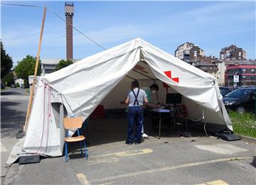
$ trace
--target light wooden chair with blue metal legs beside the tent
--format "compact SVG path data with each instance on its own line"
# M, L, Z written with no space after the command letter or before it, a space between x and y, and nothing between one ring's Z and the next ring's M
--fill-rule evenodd
M87 149L85 144L85 136L80 135L79 128L82 127L82 118L64 118L64 128L66 131L66 138L65 140L65 162L68 161L68 142L80 142L80 150L82 155L82 141L85 145L85 158L87 159ZM69 129L78 129L78 136L76 137L68 137L68 130Z

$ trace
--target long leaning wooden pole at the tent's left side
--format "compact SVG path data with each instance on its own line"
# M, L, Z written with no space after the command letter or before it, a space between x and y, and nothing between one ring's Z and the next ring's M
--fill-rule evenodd
M40 32L40 38L39 38L39 44L38 44L38 52L36 55L36 66L35 66L35 71L34 71L31 94L29 96L29 101L28 101L26 121L25 121L25 125L23 126L23 132L25 132L26 128L28 127L28 120L29 120L29 116L31 114L31 108L32 108L32 103L33 103L33 94L34 94L35 84L36 84L36 75L37 75L37 71L38 71L38 63L39 63L39 57L40 57L40 51L41 51L41 44L42 44L42 38L43 38L43 27L44 27L45 20L46 20L46 6L43 7L43 20L42 20L41 32Z

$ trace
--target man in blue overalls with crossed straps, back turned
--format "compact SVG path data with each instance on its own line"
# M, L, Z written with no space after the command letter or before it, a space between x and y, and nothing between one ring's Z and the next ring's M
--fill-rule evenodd
M144 103L148 103L146 93L144 90L139 89L139 82L132 82L132 91L129 92L125 103L129 105L128 108L128 129L127 129L127 145L132 145L135 142L135 145L141 142L142 134L142 125L144 121ZM135 135L133 134L134 123L136 123Z

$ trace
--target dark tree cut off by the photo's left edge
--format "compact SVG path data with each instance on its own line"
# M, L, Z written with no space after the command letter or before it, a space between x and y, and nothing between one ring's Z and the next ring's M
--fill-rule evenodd
M1 45L1 79L4 78L6 74L11 72L11 68L13 67L14 63L12 58L6 54L6 50L4 50L4 45L0 41Z

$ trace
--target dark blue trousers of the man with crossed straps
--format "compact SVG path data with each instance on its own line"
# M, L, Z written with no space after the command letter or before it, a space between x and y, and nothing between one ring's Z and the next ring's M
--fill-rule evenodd
M142 125L144 120L142 106L132 106L128 109L128 138L127 142L141 142ZM135 136L133 137L134 122L136 123Z

